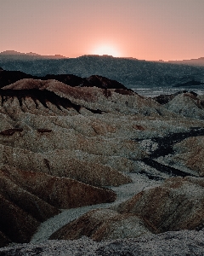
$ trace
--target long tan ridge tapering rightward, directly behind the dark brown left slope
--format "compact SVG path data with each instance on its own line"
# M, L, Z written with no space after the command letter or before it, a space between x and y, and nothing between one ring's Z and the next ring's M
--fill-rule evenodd
M3 145L0 145L0 148L0 163L9 164L21 170L71 177L95 186L117 186L131 182L129 177L125 177L109 166L75 159L67 155L66 151L56 150L45 155Z

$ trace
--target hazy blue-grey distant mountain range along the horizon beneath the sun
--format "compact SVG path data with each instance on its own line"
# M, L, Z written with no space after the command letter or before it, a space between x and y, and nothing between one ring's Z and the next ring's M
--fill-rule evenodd
M204 58L197 62L202 63ZM204 82L204 66L184 61L140 61L134 58L116 58L111 55L82 55L66 58L62 55L22 54L15 51L0 53L0 67L4 70L46 74L74 74L88 78L100 75L114 79L128 88L174 86L192 80ZM182 62L182 63L181 63ZM188 65L186 65L188 64ZM201 86L201 85L200 85Z

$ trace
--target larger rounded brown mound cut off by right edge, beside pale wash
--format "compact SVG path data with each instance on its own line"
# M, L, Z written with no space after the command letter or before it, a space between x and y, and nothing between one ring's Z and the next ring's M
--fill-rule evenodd
M193 230L204 224L201 177L173 177L161 186L140 192L114 209L147 219L160 232Z

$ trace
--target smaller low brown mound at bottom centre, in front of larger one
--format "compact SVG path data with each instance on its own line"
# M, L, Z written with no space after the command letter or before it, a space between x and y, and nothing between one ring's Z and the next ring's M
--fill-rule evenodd
M120 214L109 209L90 211L66 224L49 239L73 240L88 236L94 241L127 238L151 234L154 227L133 214Z

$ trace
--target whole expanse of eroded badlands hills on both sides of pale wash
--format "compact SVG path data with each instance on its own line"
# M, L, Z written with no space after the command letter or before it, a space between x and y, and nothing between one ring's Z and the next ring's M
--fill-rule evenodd
M107 186L131 183L130 172L181 177L88 212L54 239L200 228L202 96L182 92L160 104L103 77L86 79L88 86L63 79L20 78L0 90L1 246L30 241L62 209L115 201Z

